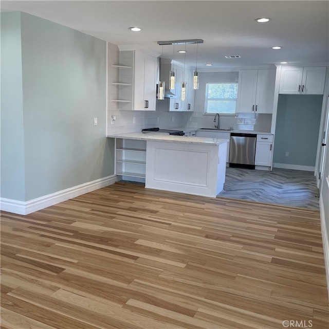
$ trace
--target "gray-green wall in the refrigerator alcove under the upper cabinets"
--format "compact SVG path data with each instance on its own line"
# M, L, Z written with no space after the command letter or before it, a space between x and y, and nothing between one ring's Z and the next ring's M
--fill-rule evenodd
M279 95L274 163L315 166L322 100L322 95Z

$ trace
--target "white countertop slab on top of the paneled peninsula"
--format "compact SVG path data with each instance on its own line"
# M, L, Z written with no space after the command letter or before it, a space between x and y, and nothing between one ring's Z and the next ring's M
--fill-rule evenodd
M187 143L187 144L205 144L205 145L213 145L213 146L217 146L228 142L228 139L194 137L194 136L193 137L175 136L175 135L169 135L166 133L158 133L158 132L124 133L124 134L107 135L106 137L150 140L150 141L159 141L159 142Z

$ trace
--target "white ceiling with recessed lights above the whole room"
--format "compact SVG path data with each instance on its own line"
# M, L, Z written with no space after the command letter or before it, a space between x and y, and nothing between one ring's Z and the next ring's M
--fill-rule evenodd
M43 17L99 39L136 45L162 54L157 41L203 39L198 69L218 67L313 65L329 61L329 2L326 1L1 1L2 11ZM256 23L259 17L269 23ZM141 32L128 28L139 26ZM272 46L282 46L280 50ZM121 47L121 48L122 48ZM184 61L163 46L163 57ZM186 45L186 64L195 66L196 45ZM240 59L226 59L240 55Z

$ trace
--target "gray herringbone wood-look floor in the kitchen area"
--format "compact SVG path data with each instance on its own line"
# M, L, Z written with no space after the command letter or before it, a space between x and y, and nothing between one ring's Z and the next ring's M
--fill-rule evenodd
M226 168L224 191L218 196L319 210L319 190L310 171Z

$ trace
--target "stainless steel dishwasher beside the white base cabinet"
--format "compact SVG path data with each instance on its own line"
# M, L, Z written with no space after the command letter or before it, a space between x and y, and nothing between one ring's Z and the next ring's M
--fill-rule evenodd
M230 167L255 169L256 134L231 133Z

